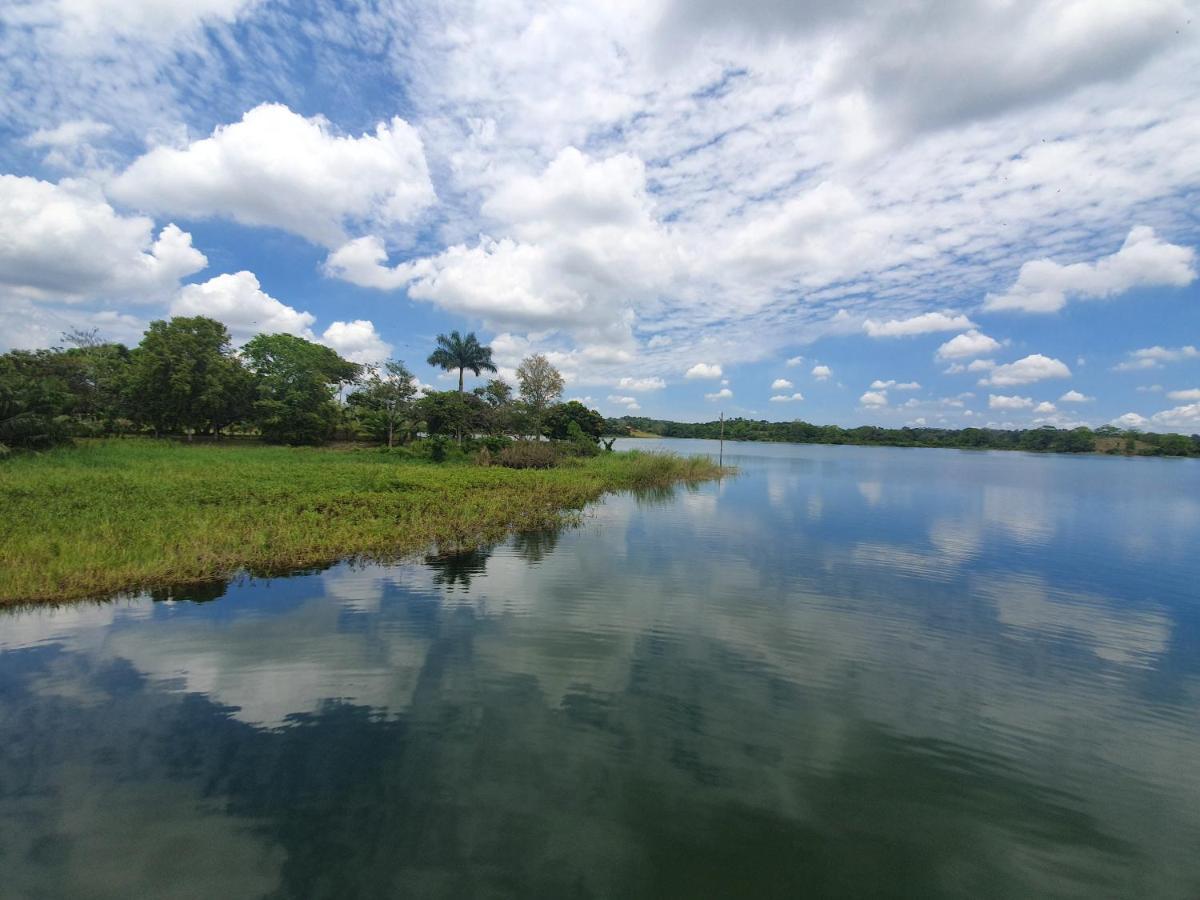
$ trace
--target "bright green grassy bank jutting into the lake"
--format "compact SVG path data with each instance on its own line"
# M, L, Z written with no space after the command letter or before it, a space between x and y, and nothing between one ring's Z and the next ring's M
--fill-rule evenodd
M94 442L0 466L0 604L490 542L560 526L608 491L718 474L704 458L637 451L515 470L373 450Z

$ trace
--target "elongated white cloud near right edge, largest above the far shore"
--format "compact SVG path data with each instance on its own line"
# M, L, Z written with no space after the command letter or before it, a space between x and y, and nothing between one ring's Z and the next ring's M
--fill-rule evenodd
M1129 230L1121 250L1094 263L1025 263L1016 283L1003 294L988 294L984 308L1057 312L1069 299L1117 296L1134 288L1184 287L1195 280L1194 260L1190 247L1168 244L1153 228L1138 226Z

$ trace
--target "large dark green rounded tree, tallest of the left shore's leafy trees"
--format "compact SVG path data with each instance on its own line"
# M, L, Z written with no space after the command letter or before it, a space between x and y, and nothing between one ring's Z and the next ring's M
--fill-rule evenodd
M151 322L125 388L133 418L155 433L218 432L245 418L252 397L226 326L203 316Z

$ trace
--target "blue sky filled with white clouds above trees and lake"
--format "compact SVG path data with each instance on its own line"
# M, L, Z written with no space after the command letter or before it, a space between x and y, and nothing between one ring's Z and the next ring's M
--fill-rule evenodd
M0 349L1200 432L1200 0L0 0ZM473 380L473 383L475 383Z

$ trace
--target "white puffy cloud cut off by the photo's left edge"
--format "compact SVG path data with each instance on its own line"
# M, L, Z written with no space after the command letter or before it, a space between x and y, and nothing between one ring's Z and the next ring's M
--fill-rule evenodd
M208 265L174 224L121 216L88 185L0 175L0 284L34 299L157 299Z

